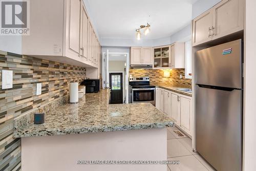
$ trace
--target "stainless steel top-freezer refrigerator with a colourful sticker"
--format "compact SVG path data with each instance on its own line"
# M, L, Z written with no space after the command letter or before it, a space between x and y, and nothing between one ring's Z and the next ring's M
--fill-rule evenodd
M242 40L196 53L196 150L219 171L242 170Z

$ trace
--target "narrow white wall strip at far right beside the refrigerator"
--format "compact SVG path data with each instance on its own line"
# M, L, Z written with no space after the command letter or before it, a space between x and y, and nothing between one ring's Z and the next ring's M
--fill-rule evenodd
M245 99L244 99L244 170L256 170L256 1L246 0L245 25Z

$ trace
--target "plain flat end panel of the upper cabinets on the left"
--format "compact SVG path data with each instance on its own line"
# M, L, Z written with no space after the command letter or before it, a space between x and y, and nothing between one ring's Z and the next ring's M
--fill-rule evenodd
M63 55L63 6L63 0L30 1L30 35L22 36L22 54Z

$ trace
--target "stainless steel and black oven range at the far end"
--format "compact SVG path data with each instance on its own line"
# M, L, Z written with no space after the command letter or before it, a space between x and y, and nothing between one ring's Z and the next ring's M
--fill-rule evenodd
M130 77L129 103L143 102L156 104L156 87L150 85L149 77Z

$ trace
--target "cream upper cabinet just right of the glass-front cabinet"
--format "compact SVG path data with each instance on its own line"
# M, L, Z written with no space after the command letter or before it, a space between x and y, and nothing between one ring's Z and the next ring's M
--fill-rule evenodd
M171 68L185 68L185 43L175 42L170 45Z

